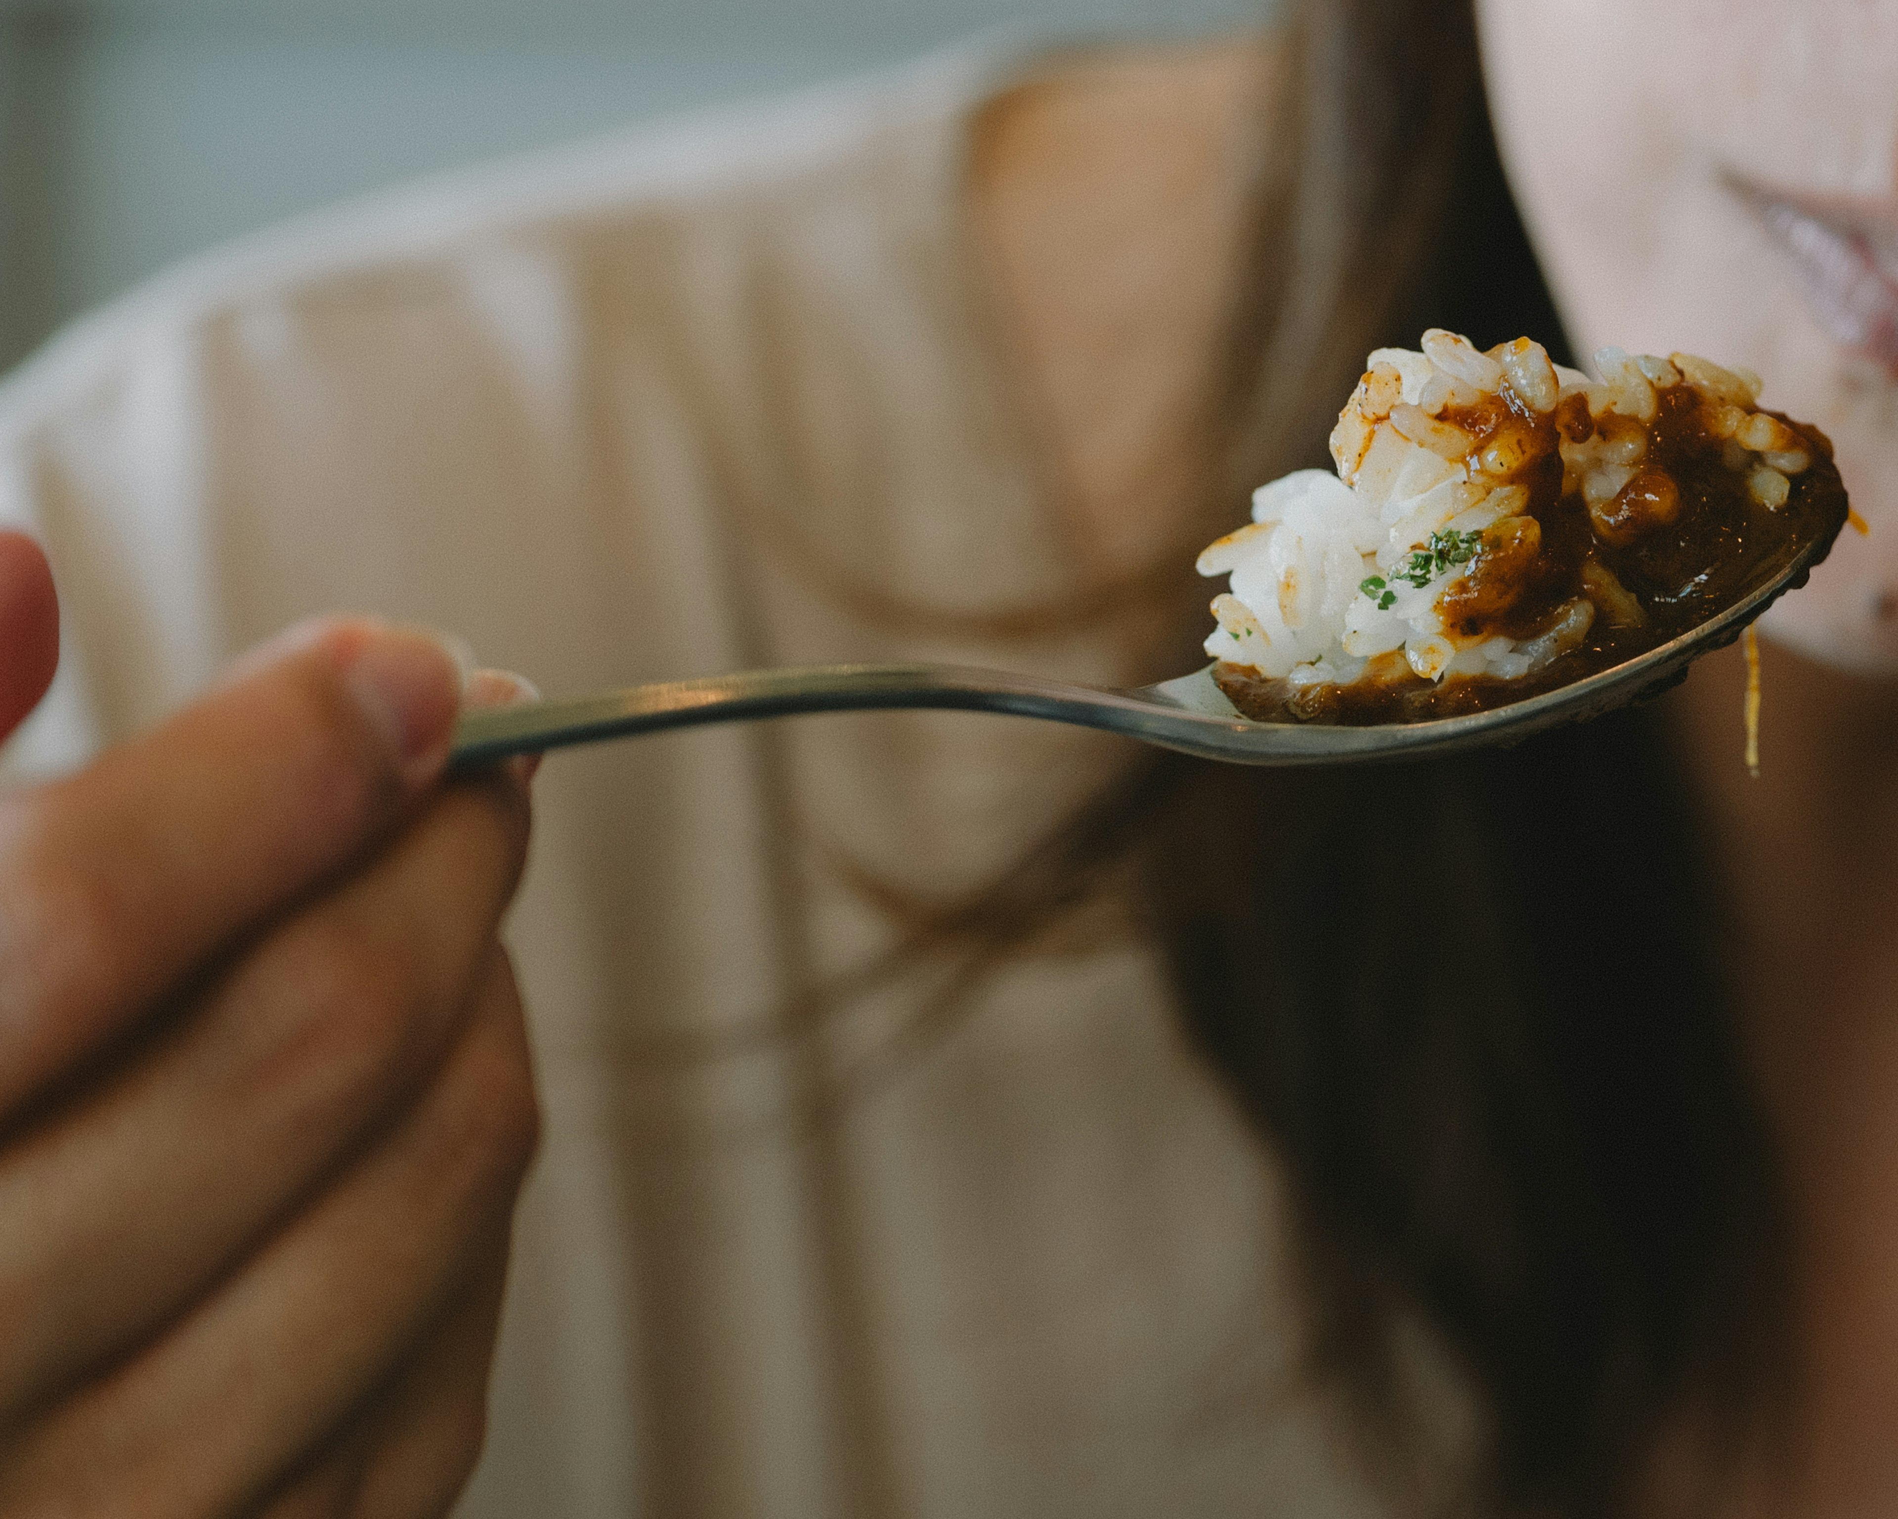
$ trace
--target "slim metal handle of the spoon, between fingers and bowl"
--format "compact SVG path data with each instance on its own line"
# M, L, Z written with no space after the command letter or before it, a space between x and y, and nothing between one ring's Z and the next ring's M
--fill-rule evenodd
M890 706L1010 712L1107 727L1135 737L1146 737L1143 716L1150 720L1152 712L1150 703L1118 691L1000 670L953 665L826 665L668 680L592 697L482 708L465 714L456 727L450 763L471 767L509 754L537 754L596 739L661 733L668 727Z

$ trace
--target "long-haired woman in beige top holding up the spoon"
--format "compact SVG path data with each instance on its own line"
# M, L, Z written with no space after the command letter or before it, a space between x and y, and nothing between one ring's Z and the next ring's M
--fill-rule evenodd
M1877 530L1773 613L1765 778L1725 657L1640 712L1374 773L932 714L564 756L509 925L545 1151L461 1511L1890 1510L1898 8L1477 11L1321 0L1198 47L958 53L465 177L199 264L9 384L0 496L68 608L15 758L120 746L8 803L55 822L0 851L0 892L42 925L30 972L66 883L120 883L61 953L137 991L15 993L46 1054L0 1187L114 1078L205 1115L169 1139L104 1122L178 1156L158 1177L205 1211L125 1208L133 1168L80 1187L120 1206L30 1213L42 1259L118 1274L0 1278L0 1323L40 1325L0 1333L30 1371L15 1492L442 1511L530 1128L516 1050L467 1189L486 1253L393 1187L328 1266L251 1287L353 1172L325 1191L309 1151L220 1128L230 1088L207 1099L169 1048L252 1008L271 1027L275 936L400 873L408 839L486 849L414 866L366 961L321 927L290 961L319 993L292 997L298 1069L351 1116L311 1137L260 1082L254 1122L321 1154L357 1135L372 1170L368 1135L406 1120L357 1116L359 1088L452 1086L414 1075L456 1069L429 1054L444 1006L488 1027L492 995L507 1023L465 987L497 985L474 966L499 966L518 777L442 786L442 699L412 790L336 801L359 792L309 769L283 704L351 640L406 638L374 625L129 735L330 606L456 628L562 691L1186 668L1194 551L1321 458L1365 351L1425 323L1558 336L1480 30L1573 336L1752 365L1833 435ZM47 594L23 602L42 644ZM260 889L245 851L271 830L304 853ZM21 858L68 894L34 908ZM140 936L154 902L197 927ZM473 980L444 1004L416 966ZM429 1341L419 1303L461 1327ZM184 1390L140 1424L99 1413L121 1386ZM452 1416L389 1413L418 1401ZM226 1413L251 1403L268 1428Z

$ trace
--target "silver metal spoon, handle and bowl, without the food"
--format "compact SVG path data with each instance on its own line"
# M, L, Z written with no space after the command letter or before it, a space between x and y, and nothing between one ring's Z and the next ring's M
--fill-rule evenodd
M469 712L456 729L452 763L473 767L509 754L537 754L598 739L744 718L896 706L1048 718L1241 765L1414 760L1515 742L1537 729L1594 718L1674 684L1693 659L1731 644L1777 596L1803 585L1830 547L1830 537L1807 543L1744 600L1636 659L1554 691L1460 718L1376 727L1255 723L1239 716L1213 684L1211 665L1190 676L1131 691L955 665L828 665L672 680L594 697Z

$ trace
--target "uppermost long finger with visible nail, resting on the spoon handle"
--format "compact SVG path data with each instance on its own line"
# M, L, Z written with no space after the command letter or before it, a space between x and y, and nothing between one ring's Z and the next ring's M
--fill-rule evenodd
M317 623L0 803L0 1115L393 826L440 773L457 701L431 638Z

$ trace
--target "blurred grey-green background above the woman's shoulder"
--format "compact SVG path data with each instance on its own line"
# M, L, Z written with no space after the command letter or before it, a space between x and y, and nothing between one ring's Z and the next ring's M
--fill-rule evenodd
M0 370L199 249L437 169L983 32L1258 0L0 0Z

